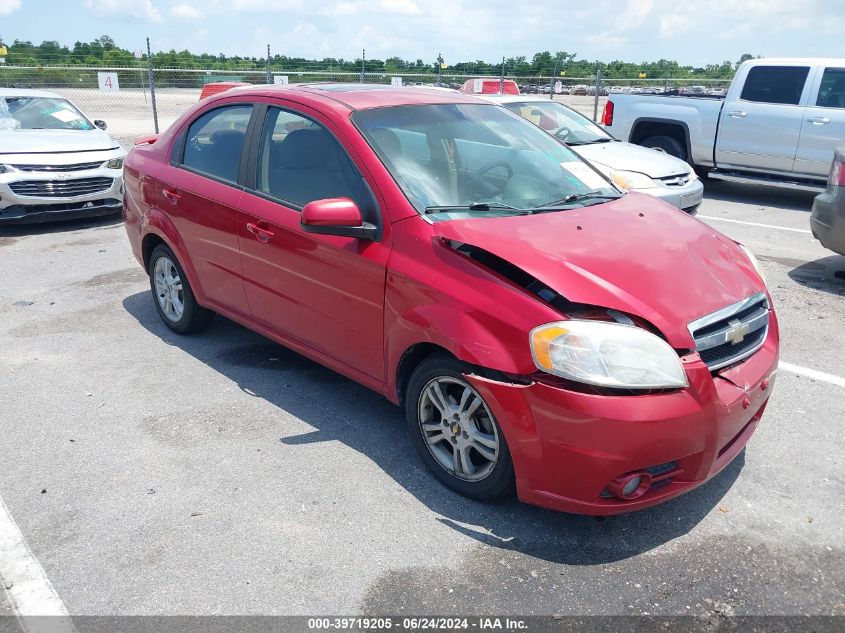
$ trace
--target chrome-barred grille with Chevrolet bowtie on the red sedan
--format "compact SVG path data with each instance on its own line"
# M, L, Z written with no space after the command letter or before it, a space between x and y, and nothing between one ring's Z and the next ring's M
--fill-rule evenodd
M758 292L689 324L695 349L711 371L748 358L766 340L771 309Z

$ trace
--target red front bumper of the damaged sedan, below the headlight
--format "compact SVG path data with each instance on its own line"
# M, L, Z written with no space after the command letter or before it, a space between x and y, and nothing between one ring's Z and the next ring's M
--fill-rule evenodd
M745 447L771 394L778 328L742 363L711 374L692 353L690 386L650 395L597 395L552 382L512 384L470 375L508 441L517 494L526 502L577 514L640 510L714 477ZM609 492L632 473L671 478L625 500Z

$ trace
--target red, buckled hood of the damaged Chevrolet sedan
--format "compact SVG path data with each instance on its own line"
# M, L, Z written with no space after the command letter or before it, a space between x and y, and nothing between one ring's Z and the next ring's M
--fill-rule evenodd
M433 229L501 257L570 301L638 315L678 349L694 347L688 323L765 291L736 243L644 194L533 216L437 222Z

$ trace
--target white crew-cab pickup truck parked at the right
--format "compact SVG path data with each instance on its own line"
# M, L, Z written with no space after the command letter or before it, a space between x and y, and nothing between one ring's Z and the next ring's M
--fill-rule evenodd
M821 191L845 142L845 59L750 60L724 97L614 94L601 123L711 178Z

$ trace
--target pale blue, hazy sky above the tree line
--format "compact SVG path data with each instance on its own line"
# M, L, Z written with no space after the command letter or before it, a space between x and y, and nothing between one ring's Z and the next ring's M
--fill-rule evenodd
M703 66L764 56L845 57L843 0L0 0L0 37L129 50L446 63L541 50Z

